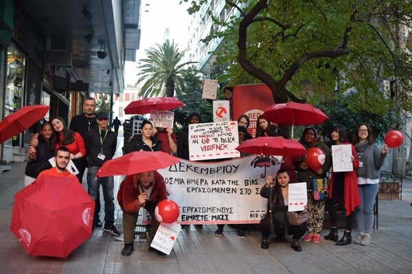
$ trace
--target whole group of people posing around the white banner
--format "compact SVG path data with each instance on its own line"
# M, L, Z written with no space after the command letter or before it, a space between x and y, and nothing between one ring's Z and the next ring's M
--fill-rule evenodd
M232 90L225 92L229 98ZM39 173L52 168L50 158L56 162L56 170L65 171L69 160L78 169L78 179L82 183L84 171L87 168L87 184L89 195L96 203L93 227L102 227L100 221L100 186L104 195L104 231L119 236L114 219L114 180L112 177L96 176L100 166L115 155L117 148L116 132L108 127L108 114L98 112L95 114L95 99L88 97L83 104L84 113L73 116L70 127L60 117L45 121L40 132L34 134L27 150L27 166L25 170L25 186L36 179ZM201 116L194 112L190 114L188 123L201 123ZM252 136L247 132L249 117L241 115L238 118L239 140L247 140ZM282 130L271 124L266 119L258 117L255 138L260 136L273 136L287 138ZM343 125L336 125L332 129L331 139L334 145L351 144L347 130ZM304 236L304 241L319 243L323 229L325 215L325 201L317 201L308 192L308 204L305 212L309 213L308 222L300 225L288 225L286 212L288 211L288 184L306 182L308 190L312 190L312 179L327 178L332 166L330 148L322 142L314 127L307 127L299 140L308 150L319 147L325 153L325 162L321 168L312 170L306 162L306 155L285 155L276 177L266 177L265 184L260 190L260 195L268 199L266 217L260 223L262 232L262 249L269 247L270 234L276 234L275 241L288 242L287 236L292 236L291 247L301 251L299 239ZM124 147L124 154L133 151L164 151L173 153L179 158L189 160L188 127L183 128L176 136L171 128L153 127L150 121L141 123L141 134L136 134ZM67 153L67 155L58 155ZM324 236L325 240L332 240L336 245L349 245L352 242L352 227L356 220L358 236L354 242L360 245L369 245L374 221L374 199L378 192L380 168L388 152L387 145L379 148L372 136L371 128L362 123L355 129L352 140L352 166L353 171L334 172L330 178L330 192L328 210L330 216L330 233ZM66 165L66 166L65 166ZM64 172L67 173L66 171ZM121 182L117 192L117 200L123 212L124 248L122 256L133 253L133 240L135 238L135 225L140 208L146 208L152 216L150 238L155 236L159 222L155 218L155 207L159 201L167 199L165 182L157 171L128 175ZM343 237L339 240L337 227L337 205L343 202L346 213L346 226ZM244 238L244 227L239 227L238 235ZM215 235L220 236L223 225L218 225ZM150 251L156 249L149 248Z

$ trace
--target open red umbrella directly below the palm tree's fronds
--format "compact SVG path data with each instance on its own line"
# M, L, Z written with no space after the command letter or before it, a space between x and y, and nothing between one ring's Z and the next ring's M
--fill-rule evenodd
M124 108L125 114L147 114L152 110L172 110L184 103L174 97L151 97L129 103Z

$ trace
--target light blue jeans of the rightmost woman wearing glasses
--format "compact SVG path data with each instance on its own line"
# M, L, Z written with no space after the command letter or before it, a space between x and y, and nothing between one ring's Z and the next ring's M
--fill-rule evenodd
M359 184L361 206L356 208L356 225L359 233L371 234L374 227L374 203L379 184Z

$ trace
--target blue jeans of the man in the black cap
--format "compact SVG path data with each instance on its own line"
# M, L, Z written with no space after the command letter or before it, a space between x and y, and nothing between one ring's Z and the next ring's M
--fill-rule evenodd
M115 223L115 197L113 188L115 182L113 176L96 177L95 173L100 169L100 166L89 166L87 168L87 186L91 199L97 201L99 188L102 185L104 197L104 226L111 226ZM99 212L95 211L94 218L98 218Z

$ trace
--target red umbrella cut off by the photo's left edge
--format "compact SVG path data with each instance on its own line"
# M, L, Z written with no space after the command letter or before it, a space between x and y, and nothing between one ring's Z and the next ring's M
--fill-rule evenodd
M49 105L25 105L20 110L5 116L0 123L0 143L25 131L25 129L43 119L49 108Z

